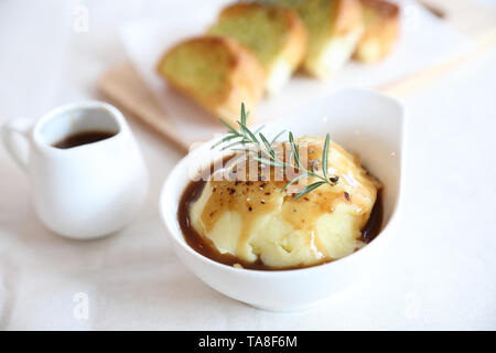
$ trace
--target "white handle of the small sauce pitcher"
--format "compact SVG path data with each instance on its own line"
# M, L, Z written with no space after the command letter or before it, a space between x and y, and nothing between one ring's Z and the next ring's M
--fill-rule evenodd
M6 122L1 129L3 146L6 146L9 154L24 172L28 171L29 161L28 132L30 131L32 125L33 124L31 120L19 118ZM21 137L24 141L21 141L21 139L15 139L15 136Z

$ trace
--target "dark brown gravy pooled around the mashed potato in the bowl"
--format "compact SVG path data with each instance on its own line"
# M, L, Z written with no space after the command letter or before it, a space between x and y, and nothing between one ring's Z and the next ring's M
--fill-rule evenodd
M225 164L229 159L231 159L233 156L229 156L223 160L223 164ZM191 205L198 200L198 197L202 195L202 191L205 188L206 184L206 178L205 175L212 174L214 172L214 164L211 165L209 169L206 169L203 172L203 178L198 181L192 181L186 186L186 189L183 192L183 195L181 196L181 201L177 207L177 220L181 227L181 231L183 232L184 238L186 243L196 252L202 254L205 257L208 257L209 259L228 265L234 266L236 264L239 264L242 266L242 268L247 269L257 269L257 270L288 270L288 269L300 269L300 268L306 268L306 267L313 267L319 266L325 263L331 263L333 260L324 260L322 263L311 265L311 266L294 266L294 267L270 267L265 265L261 259L258 259L255 263L248 263L245 261L234 255L230 254L220 254L218 252L211 239L204 238L202 235L200 235L192 226L191 220L190 220L190 207ZM370 217L367 221L367 224L362 229L362 238L360 240L368 244L370 243L380 232L381 224L382 224L382 192L381 190L377 191L377 200L374 204L374 207L370 212Z

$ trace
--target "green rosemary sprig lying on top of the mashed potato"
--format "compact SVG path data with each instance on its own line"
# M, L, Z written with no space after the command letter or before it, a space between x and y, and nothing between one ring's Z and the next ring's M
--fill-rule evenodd
M212 146L212 149L216 148L217 146L224 145L222 147L222 150L230 149L234 151L245 151L247 153L254 153L254 160L262 164L282 168L284 171L287 169L298 170L298 175L291 179L284 185L284 188L281 189L281 192L284 192L289 186L298 182L300 179L309 176L315 176L319 179L319 181L305 186L302 191L294 195L294 199L300 199L301 196L308 194L309 192L317 189L321 185L330 184L334 186L338 182L339 176L328 176L327 174L328 145L331 141L331 137L328 133L325 136L324 149L322 152L321 174L315 170L315 164L319 162L319 159L313 161L310 170L305 165L303 165L300 159L299 146L294 142L294 137L291 131L288 132L288 140L291 148L291 154L289 158L290 161L289 163L281 161L272 146L277 142L281 135L285 132L285 130L279 132L272 139L272 141L269 142L263 133L260 132L263 126L258 128L256 131L251 131L247 127L246 121L248 115L249 113L246 111L245 104L241 103L241 117L240 120L237 121L239 125L239 129L234 128L229 122L220 118L220 121L228 128L229 132L226 135L226 137L214 143ZM238 146L241 146L242 148L237 148ZM255 149L250 148L250 146L255 147Z

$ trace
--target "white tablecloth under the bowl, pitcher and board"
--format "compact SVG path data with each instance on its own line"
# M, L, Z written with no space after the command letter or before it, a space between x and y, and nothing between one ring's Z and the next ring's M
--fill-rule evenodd
M171 3L1 1L0 122L98 98L95 79L125 58L120 24L166 17ZM88 31L75 26L82 9ZM150 194L136 222L100 240L46 231L0 148L0 329L496 329L495 62L493 49L403 99L408 185L390 261L302 312L236 302L177 260L158 201L181 156L134 121Z

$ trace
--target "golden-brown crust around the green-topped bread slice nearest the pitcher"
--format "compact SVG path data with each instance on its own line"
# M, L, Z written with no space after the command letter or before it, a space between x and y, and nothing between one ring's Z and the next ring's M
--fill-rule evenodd
M193 60L202 57L202 53L218 51L227 55L224 63L227 72L222 86L208 95L202 95L192 89L187 84L163 67L168 61L183 46L195 46ZM187 63L185 63L187 65ZM245 103L249 110L254 110L263 94L265 72L257 57L237 41L222 36L198 36L183 41L170 49L158 64L158 73L164 77L171 86L190 96L195 101L215 115L230 124L236 124L240 105Z

